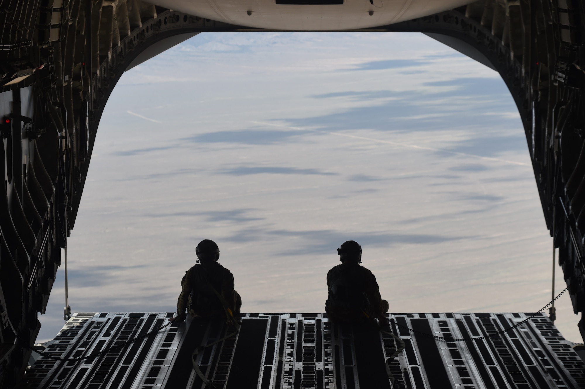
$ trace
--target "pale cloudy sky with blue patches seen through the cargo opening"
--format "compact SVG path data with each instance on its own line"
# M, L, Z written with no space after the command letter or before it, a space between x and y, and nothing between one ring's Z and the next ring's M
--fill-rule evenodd
M511 95L419 33L204 33L126 72L68 239L72 311L175 311L205 238L243 312L324 311L349 239L391 312L550 301L552 239ZM63 306L61 266L39 341ZM556 306L581 341L569 296Z

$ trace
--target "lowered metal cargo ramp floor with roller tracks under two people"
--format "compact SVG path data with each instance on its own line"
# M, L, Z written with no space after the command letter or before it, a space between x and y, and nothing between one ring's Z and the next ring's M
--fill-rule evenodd
M93 355L161 327L172 315L74 314L45 352L67 358ZM583 362L544 314L503 335L449 341L494 334L530 315L389 314L399 325L393 325L394 334L406 345L390 366L397 378L394 388L385 366L396 350L394 339L371 325L334 324L326 314L245 314L239 333L199 352L197 362L216 388L225 389L585 388ZM188 318L81 362L41 356L21 387L201 389L191 353L228 331L233 328L225 319Z

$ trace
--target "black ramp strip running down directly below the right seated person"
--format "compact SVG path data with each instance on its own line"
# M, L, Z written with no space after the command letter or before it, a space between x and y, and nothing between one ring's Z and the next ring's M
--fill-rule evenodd
M391 389L380 331L369 324L355 324L353 342L360 388Z

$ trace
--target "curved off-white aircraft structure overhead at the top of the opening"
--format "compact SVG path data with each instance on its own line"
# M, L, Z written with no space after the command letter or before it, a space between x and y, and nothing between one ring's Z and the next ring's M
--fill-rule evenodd
M432 15L474 0L156 0L233 25L273 30L353 30Z

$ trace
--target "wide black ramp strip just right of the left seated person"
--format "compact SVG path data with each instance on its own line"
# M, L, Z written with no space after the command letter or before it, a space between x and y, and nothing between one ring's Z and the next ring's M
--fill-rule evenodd
M242 319L226 389L256 389L268 319Z

